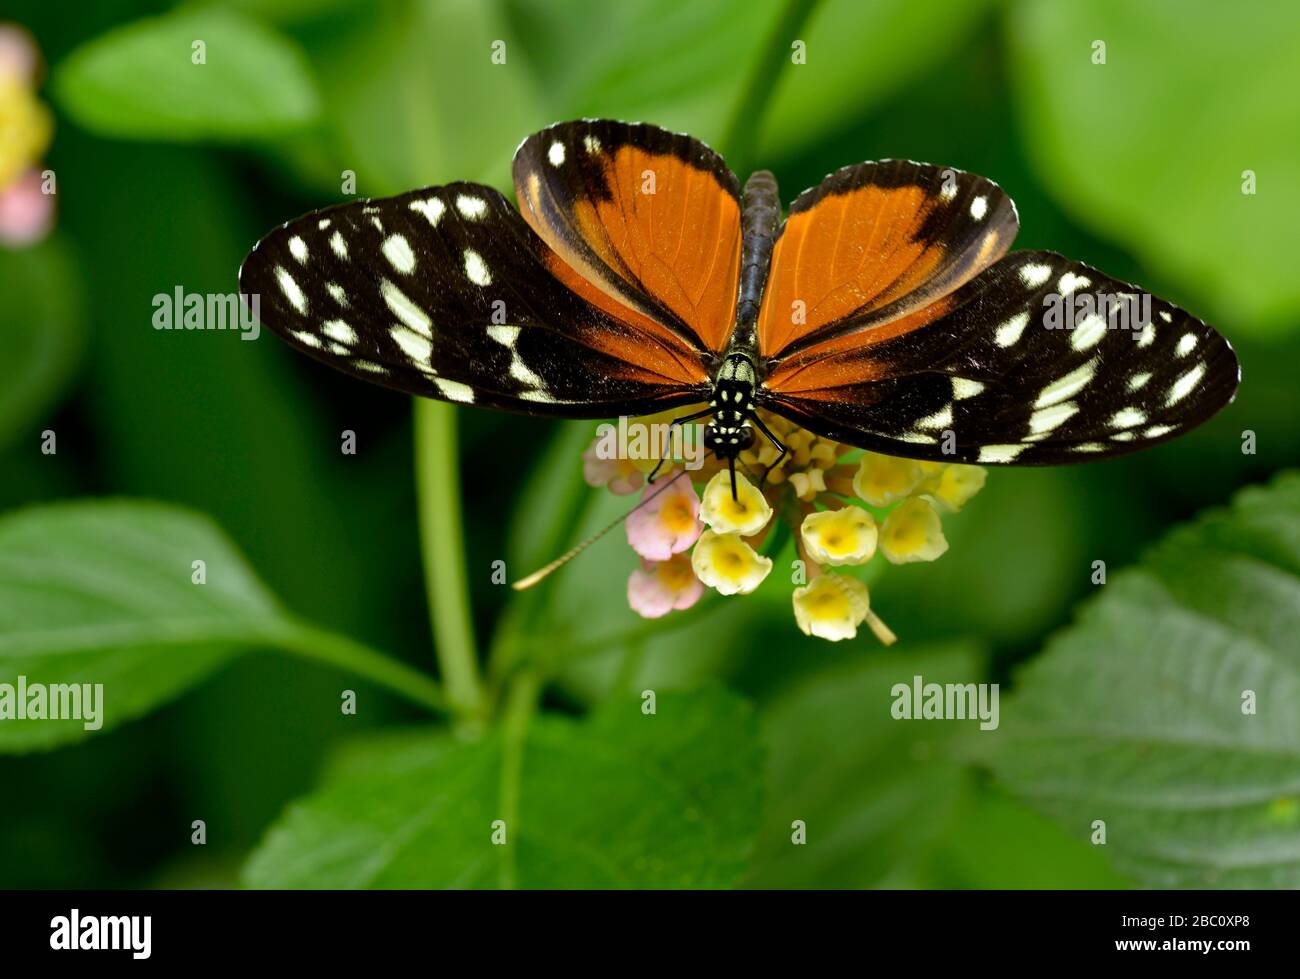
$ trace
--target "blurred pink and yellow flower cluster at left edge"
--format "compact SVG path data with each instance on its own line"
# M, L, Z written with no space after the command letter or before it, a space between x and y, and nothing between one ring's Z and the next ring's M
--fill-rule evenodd
M53 224L53 195L38 166L53 118L36 99L40 57L20 27L0 23L0 246L39 242Z

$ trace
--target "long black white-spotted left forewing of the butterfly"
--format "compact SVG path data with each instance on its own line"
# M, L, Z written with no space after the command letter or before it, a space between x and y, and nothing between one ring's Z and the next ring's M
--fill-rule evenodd
M554 263L498 191L451 183L287 222L239 289L298 350L410 394L572 417L699 400L699 351L586 302Z

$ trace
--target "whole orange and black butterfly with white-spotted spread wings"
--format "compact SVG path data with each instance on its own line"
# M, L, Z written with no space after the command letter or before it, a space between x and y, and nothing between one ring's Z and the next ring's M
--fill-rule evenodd
M846 166L783 222L768 172L741 194L697 139L578 121L525 139L514 177L519 211L448 183L300 217L240 290L306 354L426 398L569 417L707 402L680 420L711 416L733 467L754 426L776 443L757 408L888 455L1052 465L1173 438L1236 391L1232 348L1183 309L1006 255L1015 205L970 173Z

